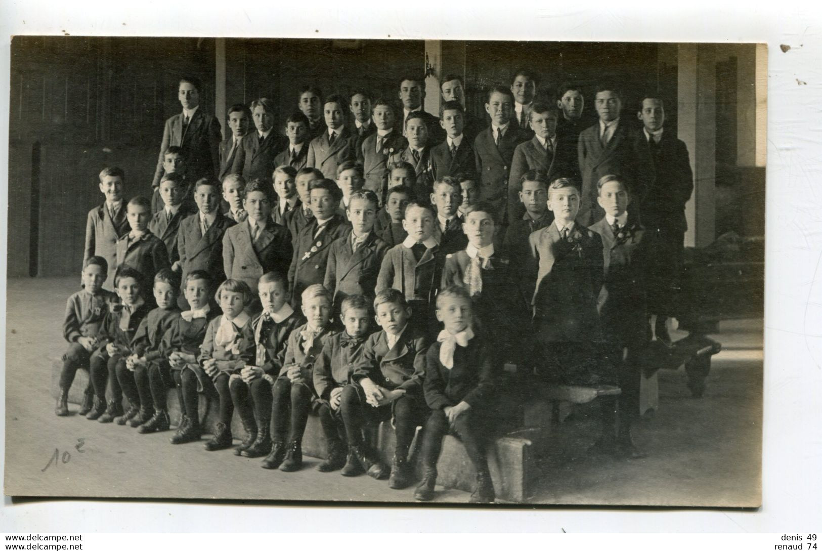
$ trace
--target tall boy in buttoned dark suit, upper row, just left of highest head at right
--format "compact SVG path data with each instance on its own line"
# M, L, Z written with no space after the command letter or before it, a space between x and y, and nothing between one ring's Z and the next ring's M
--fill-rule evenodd
M500 87L489 90L485 111L491 117L491 126L473 141L479 199L491 202L495 220L502 225L506 224L511 160L516 146L527 139L520 127L511 123L513 109L514 96L510 90Z

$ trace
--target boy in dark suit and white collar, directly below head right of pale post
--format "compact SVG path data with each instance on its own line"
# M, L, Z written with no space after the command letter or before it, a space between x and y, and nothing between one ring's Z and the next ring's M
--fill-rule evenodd
M464 135L465 112L457 101L446 101L440 108L440 126L446 131L446 141L431 148L434 178L464 174L475 169L471 142Z

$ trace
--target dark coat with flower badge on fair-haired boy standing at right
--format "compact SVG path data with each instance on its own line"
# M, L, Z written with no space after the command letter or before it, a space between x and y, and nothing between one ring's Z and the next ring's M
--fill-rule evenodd
M543 341L590 342L600 336L597 300L603 286L603 240L576 223L569 239L556 224L529 236L536 274L533 317Z

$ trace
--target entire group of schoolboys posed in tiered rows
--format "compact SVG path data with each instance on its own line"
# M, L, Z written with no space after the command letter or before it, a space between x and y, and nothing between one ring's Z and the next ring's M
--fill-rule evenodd
M533 101L535 87L518 72L510 90L492 88L484 130L465 114L458 77L443 82L439 119L422 110L413 77L400 84L402 111L363 91L321 104L307 87L287 140L263 98L229 109L220 141L200 83L182 79L154 197L124 201L122 170L99 175L105 201L89 213L82 290L67 303L56 413L68 414L77 368L90 369L80 413L139 433L169 430L176 389L171 442L182 444L206 432L199 395L214 396L205 449L233 447L282 471L302 467L314 413L328 450L317 470L390 478L391 488L412 484L422 426L415 498L434 497L453 433L477 470L471 501L492 502L485 447L506 407L503 364L515 363L540 383L621 387L618 404L602 401L592 450L642 456L630 426L649 259L659 225L676 217L665 209L677 215L690 197L686 178L664 176L660 149L681 142L658 139L656 96L639 113L645 155L619 123L617 90L598 90L599 120L582 129L579 88L560 90L556 109ZM656 227L640 219L645 205ZM363 432L383 420L395 431L391 465Z

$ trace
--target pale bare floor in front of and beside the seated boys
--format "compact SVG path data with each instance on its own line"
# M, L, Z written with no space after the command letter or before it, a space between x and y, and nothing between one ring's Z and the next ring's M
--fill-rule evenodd
M262 470L259 460L201 444L172 447L169 433L57 418L49 370L62 354L62 310L76 279L9 280L7 289L5 493L238 500L413 502L413 488L395 491L367 477ZM635 440L639 461L586 457L594 415L584 407L557 425L550 461L533 503L755 507L760 502L762 322L724 322L704 398L690 398L685 375L660 373L660 407ZM82 442L82 443L81 443ZM78 447L79 446L79 447ZM57 451L57 460L53 461ZM438 502L468 494L442 491Z

